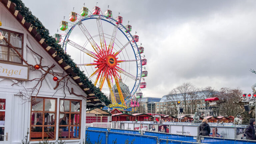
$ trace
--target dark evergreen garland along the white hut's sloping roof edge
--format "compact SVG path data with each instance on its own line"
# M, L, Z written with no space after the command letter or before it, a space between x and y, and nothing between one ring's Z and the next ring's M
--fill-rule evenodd
M105 102L106 105L110 104L110 100L100 91L99 88L95 87L94 84L88 79L88 77L76 66L73 60L70 58L70 55L66 54L61 47L61 45L56 43L55 38L49 36L49 30L46 29L41 21L34 15L32 15L29 8L27 8L21 0L10 0L11 2L16 4L15 9L20 12L20 14L24 17L25 21L31 23L36 31L41 35L41 38L44 38L46 44L51 46L55 51L56 54L66 62L73 71L80 77L82 83L88 87L95 96L100 99L101 101ZM102 105L98 105L97 107L101 107ZM93 106L94 107L94 106Z

